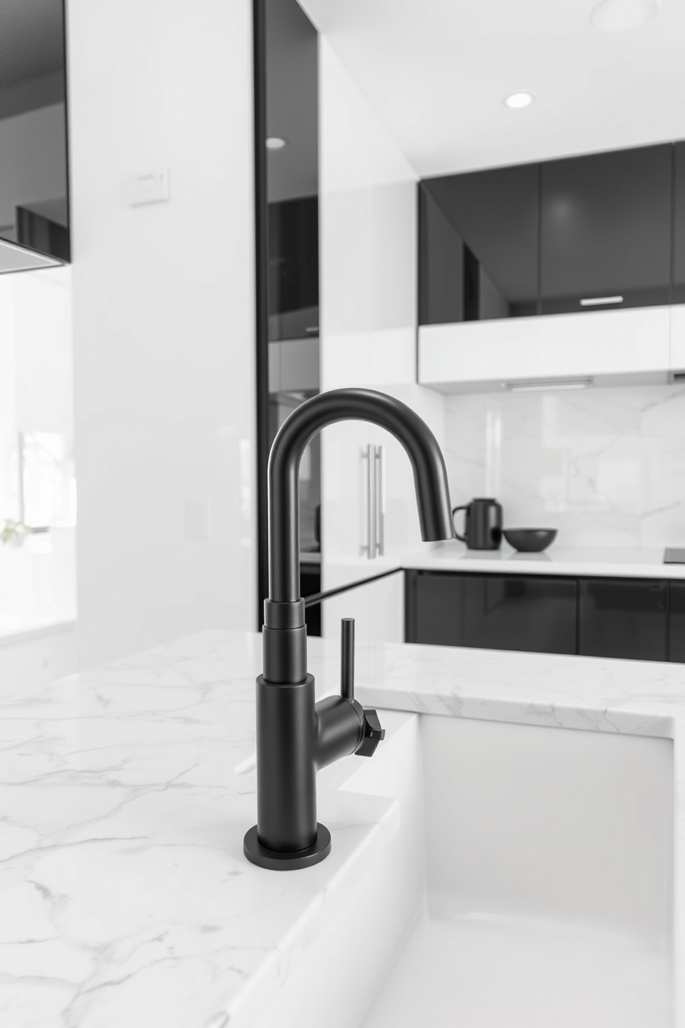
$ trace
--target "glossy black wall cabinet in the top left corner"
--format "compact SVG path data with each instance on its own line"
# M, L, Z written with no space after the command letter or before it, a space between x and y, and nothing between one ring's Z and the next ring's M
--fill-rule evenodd
M70 258L64 3L34 7L0 4L0 271Z

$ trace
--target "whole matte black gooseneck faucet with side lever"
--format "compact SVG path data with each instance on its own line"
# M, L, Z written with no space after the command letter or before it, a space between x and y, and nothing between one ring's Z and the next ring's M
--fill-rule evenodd
M406 404L372 390L321 393L298 407L271 447L269 598L264 603L263 673L257 678L257 824L244 838L253 864L287 871L328 856L331 835L316 821L316 772L348 754L371 757L385 734L375 710L354 699L354 626L342 624L341 695L314 703L300 596L299 472L312 437L342 420L372 421L404 446L414 471L422 538L452 539L445 462L426 424Z

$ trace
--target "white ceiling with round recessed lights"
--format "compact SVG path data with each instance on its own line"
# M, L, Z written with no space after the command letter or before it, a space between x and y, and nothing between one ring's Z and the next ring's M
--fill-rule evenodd
M685 0L617 33L597 0L299 2L421 176L685 138Z

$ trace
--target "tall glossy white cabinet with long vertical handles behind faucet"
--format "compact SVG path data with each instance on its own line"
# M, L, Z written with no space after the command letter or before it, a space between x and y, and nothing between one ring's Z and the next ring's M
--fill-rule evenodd
M416 175L326 38L319 112L321 389L390 393L440 439L444 398L416 384ZM361 552L367 443L387 451L385 562ZM409 460L388 433L359 423L332 426L322 433L321 453L321 573L329 589L396 564L396 555L421 537ZM324 632L337 633L328 610Z

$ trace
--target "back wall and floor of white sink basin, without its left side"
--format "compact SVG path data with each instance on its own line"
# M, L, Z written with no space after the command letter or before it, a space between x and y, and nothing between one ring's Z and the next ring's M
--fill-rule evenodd
M425 903L365 1028L667 1028L671 740L420 734Z

